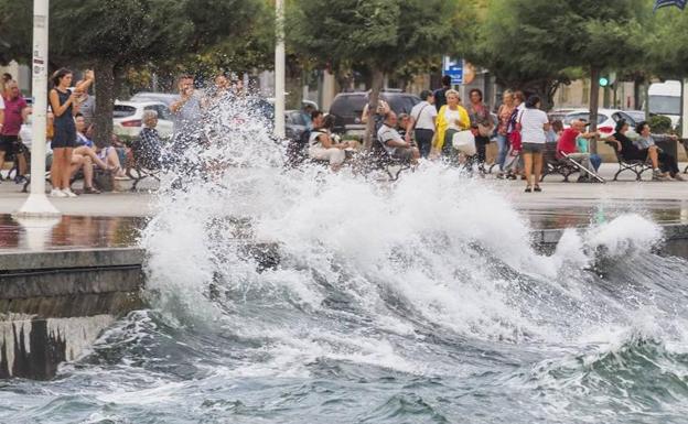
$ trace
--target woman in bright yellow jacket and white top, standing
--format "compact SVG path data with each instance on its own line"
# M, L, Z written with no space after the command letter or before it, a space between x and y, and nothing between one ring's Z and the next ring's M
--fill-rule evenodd
M453 151L452 139L459 131L471 128L469 112L459 105L461 98L459 91L447 90L447 105L440 108L437 117L437 131L434 132L434 153L442 153L451 163L458 161L458 153Z

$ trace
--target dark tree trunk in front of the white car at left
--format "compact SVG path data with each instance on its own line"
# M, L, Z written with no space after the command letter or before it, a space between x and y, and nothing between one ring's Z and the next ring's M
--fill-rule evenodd
M96 145L110 145L112 141L112 109L115 106L115 65L106 61L95 63L96 74Z

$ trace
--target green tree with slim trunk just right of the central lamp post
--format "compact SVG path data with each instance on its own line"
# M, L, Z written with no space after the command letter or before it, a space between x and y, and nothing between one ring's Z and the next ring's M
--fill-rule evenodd
M460 51L475 22L467 0L294 0L292 6L287 41L334 67L348 62L372 69L370 105L377 105L385 74ZM372 131L370 119L365 149Z

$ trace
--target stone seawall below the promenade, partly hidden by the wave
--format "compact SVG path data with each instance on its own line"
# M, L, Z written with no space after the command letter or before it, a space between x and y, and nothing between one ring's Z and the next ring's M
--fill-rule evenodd
M688 225L663 227L662 253L688 259ZM563 231L533 231L533 243L550 252ZM236 242L258 270L279 263L276 243ZM0 379L50 379L118 317L143 307L146 257L137 248L0 251Z

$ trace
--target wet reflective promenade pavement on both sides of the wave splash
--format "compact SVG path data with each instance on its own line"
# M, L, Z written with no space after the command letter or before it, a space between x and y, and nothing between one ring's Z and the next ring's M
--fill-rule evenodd
M616 168L615 164L603 164L601 174L611 180ZM542 183L544 192L537 194L524 193L520 181L497 181L491 175L484 182L520 210L534 230L587 227L628 213L663 225L688 225L688 182L576 184L550 176ZM10 214L19 209L26 195L14 184L0 184L0 251L136 246L147 217L154 214L152 188L51 199L64 214L62 218L19 222Z

